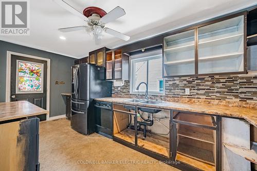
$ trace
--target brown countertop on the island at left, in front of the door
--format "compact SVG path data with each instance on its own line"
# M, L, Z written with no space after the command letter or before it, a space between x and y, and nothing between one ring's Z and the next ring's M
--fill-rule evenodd
M0 103L0 121L40 114L47 114L47 111L28 101L12 101Z

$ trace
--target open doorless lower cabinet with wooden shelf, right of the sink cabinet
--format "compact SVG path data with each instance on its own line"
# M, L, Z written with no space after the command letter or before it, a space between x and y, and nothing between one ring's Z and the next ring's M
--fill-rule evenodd
M220 117L172 111L172 161L201 170L219 170Z

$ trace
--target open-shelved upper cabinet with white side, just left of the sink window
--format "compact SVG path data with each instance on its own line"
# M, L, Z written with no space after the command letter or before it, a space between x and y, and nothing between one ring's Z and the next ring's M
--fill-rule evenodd
M129 56L121 49L106 52L106 80L128 80Z

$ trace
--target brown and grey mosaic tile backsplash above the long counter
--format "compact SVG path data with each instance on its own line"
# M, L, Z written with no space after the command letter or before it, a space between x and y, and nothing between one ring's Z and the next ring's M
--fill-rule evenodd
M190 89L190 95L185 94L185 88ZM130 81L113 87L113 94L130 95ZM257 102L257 73L167 78L165 97Z

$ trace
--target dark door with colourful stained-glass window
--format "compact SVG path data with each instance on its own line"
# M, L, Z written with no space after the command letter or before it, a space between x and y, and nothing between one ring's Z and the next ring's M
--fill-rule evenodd
M46 109L47 61L11 56L11 101L27 100Z

